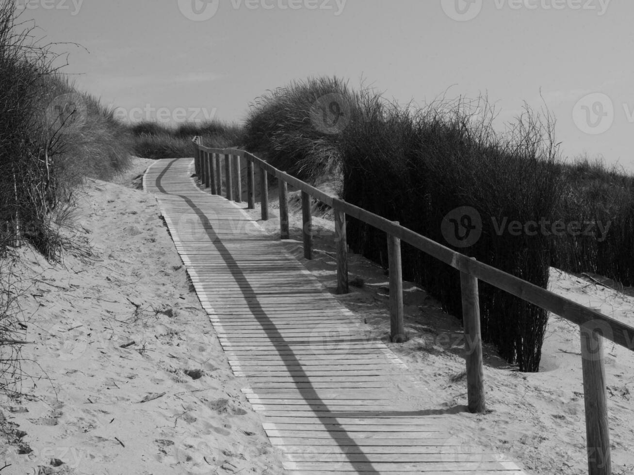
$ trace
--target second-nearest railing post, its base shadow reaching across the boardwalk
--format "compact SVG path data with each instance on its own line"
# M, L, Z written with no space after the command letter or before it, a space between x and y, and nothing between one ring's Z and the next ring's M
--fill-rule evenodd
M485 412L484 369L482 369L482 336L480 332L480 297L477 278L460 272L462 292L462 324L465 329L467 360L467 400L469 412Z

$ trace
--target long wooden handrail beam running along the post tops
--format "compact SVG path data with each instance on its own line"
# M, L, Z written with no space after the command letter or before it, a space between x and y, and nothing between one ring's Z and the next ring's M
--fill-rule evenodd
M491 265L474 260L464 254L454 251L443 244L437 243L433 239L427 238L422 234L418 234L411 229L396 224L393 221L369 212L359 206L348 203L347 201L335 198L320 189L307 184L306 182L278 170L265 160L258 158L250 152L236 148L209 148L198 145L198 148L207 153L217 153L220 155L240 155L245 156L247 160L257 163L264 168L269 174L278 179L282 179L295 188L314 196L325 205L335 210L341 211L358 220L365 222L381 231L387 232L396 238L410 244L424 253L450 265L454 269L460 270L471 276L477 277L481 281L487 282L498 289L501 289L511 295L521 298L529 303L533 303L548 312L559 315L560 317L572 322L576 325L583 325L592 320L600 320L609 325L612 332L605 332L604 338L613 341L617 345L624 346L630 351L634 351L634 327L631 327L619 320L613 319L607 315L585 307L573 300L555 294L548 289L541 288L531 282L525 281L519 277L515 277L508 272L504 272Z

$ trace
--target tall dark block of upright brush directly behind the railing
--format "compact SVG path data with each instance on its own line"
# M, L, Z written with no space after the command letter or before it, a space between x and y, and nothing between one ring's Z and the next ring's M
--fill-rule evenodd
M506 134L493 130L495 111L486 99L436 101L422 109L358 94L362 113L344 131L340 151L344 199L545 287L550 236L501 234L496 224L553 217L561 201L559 153L550 115L526 108ZM472 111L481 110L474 115ZM443 220L469 206L482 236L467 248L443 234ZM495 219L495 221L494 221ZM387 267L383 232L351 219L351 247ZM462 314L454 270L403 246L403 274L422 284L453 315ZM538 371L547 312L481 284L483 338L521 371Z

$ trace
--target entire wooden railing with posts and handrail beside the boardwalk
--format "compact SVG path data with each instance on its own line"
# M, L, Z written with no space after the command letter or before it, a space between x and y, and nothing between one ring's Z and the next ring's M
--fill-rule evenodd
M348 292L346 215L372 225L387 234L389 250L390 317L392 341L404 341L403 326L403 282L401 277L401 241L421 250L460 271L462 291L463 326L465 331L465 353L467 360L467 398L470 412L484 412L484 372L482 369L482 341L480 332L480 310L478 280L517 296L524 301L559 315L580 329L581 360L583 371L583 394L586 415L586 447L588 451L588 473L590 475L611 474L611 455L607 419L607 395L602 338L607 338L629 350L634 350L634 328L559 296L530 282L519 279L500 269L478 262L442 244L425 238L363 208L330 196L303 182L266 161L244 150L207 148L194 140L196 175L212 194L222 195L221 156L224 156L225 196L228 200L242 201L240 160L247 161L247 206L255 208L254 168L259 170L259 188L262 220L268 213L268 175L278 179L280 189L280 237L288 238L288 197L290 184L301 190L304 257L312 258L313 233L311 221L311 197L333 209L335 215L335 241L337 243L337 292ZM233 181L233 177L236 180ZM235 189L235 194L234 194Z

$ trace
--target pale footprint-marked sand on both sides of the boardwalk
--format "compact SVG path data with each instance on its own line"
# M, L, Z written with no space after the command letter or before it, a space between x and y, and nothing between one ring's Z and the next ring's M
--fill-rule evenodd
M88 182L74 226L64 231L76 246L62 263L48 263L27 246L18 250L24 338L34 343L22 350L28 375L23 395L0 400L0 421L14 442L0 446L0 469L11 464L0 470L3 475L283 473L261 419L240 391L246 382L231 373L188 283L155 200L134 189L150 163L135 159L117 183ZM270 196L271 219L260 223L275 234L275 189ZM296 192L291 200L293 239L285 242L302 259ZM259 219L259 208L250 213ZM304 262L334 293L332 217L327 210L316 209L316 215L315 258ZM387 341L384 269L350 255L349 272L363 287L337 298L366 322L369 338ZM554 269L550 288L634 324L630 296ZM429 389L412 395L412 403L428 409L465 405L460 322L410 282L404 282L404 302L411 339L388 345ZM615 474L633 474L634 354L611 344L605 349L612 467ZM490 412L461 413L463 436L529 473L587 472L578 352L578 329L557 317L550 319L538 374L517 372L486 345ZM18 454L20 447L31 452Z

